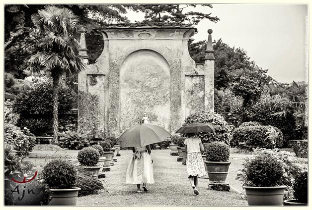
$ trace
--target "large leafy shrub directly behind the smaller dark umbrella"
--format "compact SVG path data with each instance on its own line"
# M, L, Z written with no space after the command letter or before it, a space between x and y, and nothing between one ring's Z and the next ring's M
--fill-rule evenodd
M219 128L219 130L214 132L198 133L198 136L202 139L203 143L219 141L230 145L228 123L221 115L207 111L196 112L194 114L190 114L185 119L184 124L189 125L193 122L210 123Z

